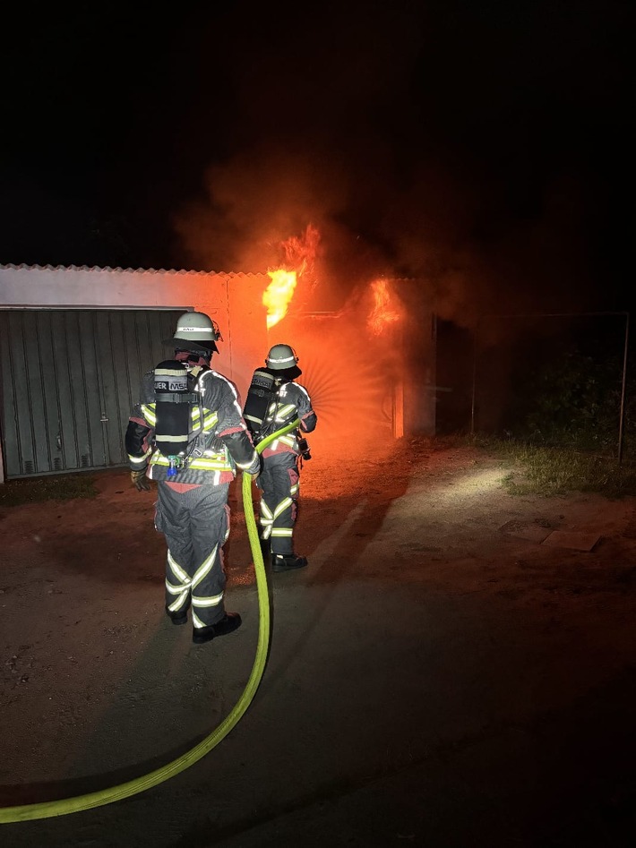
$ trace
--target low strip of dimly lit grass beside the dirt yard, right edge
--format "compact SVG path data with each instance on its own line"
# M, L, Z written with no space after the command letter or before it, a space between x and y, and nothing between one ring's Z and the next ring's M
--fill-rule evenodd
M511 494L549 497L595 492L611 499L636 495L636 467L632 463L619 466L616 458L518 441L486 440L479 444L513 467L503 477L503 485Z

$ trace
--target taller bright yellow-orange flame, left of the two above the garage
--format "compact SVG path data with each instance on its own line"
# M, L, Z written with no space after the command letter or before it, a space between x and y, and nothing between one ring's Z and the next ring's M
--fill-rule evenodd
M288 313L298 280L314 270L319 243L319 231L309 224L303 236L290 236L280 245L285 261L278 268L268 270L271 283L262 294L262 304L267 309L268 330Z

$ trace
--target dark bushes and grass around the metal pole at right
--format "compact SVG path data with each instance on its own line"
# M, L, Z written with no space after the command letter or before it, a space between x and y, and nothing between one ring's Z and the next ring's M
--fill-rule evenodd
M511 493L636 495L636 356L623 395L622 347L614 329L519 357L498 432L470 437L514 469Z

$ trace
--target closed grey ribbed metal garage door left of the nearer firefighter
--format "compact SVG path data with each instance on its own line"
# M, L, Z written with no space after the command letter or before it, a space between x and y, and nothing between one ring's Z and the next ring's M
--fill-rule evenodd
M0 310L5 476L126 465L143 373L183 310Z

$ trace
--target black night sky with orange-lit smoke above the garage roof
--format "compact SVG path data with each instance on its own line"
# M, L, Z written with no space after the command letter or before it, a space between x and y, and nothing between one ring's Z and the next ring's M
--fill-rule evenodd
M623 309L633 4L86 4L3 23L0 263L425 282Z

